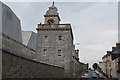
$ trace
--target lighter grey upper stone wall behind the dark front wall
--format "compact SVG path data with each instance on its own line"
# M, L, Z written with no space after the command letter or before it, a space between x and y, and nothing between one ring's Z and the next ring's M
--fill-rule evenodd
M35 57L35 51L28 46L23 45L22 43L4 35L0 34L2 38L2 50L21 56L27 59L33 60Z

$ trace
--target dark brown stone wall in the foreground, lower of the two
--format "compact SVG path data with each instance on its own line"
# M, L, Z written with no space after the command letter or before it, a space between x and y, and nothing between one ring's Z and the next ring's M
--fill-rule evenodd
M2 78L63 78L64 69L2 51Z

